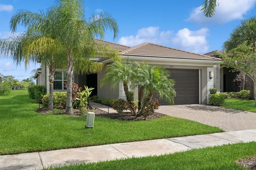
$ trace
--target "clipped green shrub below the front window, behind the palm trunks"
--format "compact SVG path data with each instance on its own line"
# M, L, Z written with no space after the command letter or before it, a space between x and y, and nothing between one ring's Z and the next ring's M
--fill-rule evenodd
M53 92L53 108L66 108L67 93L66 92ZM48 108L49 94L43 96L43 107Z

